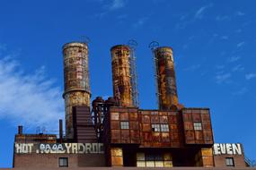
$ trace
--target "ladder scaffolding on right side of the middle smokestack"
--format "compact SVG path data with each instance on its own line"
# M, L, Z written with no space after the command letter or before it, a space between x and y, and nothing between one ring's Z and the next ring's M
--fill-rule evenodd
M132 102L133 106L139 106L138 100L138 88L137 88L137 64L136 64L136 47L137 41L131 39L128 41L128 47L130 48L130 57L129 57L129 72L130 72L130 83L132 90Z

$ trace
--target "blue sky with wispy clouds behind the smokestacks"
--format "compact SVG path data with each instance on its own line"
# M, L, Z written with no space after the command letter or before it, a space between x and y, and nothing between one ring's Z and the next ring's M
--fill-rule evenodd
M64 116L62 45L90 42L93 98L111 96L110 47L136 39L141 108L156 108L148 44L173 48L178 96L209 107L216 142L242 142L256 159L256 13L253 0L75 0L0 3L0 167L13 136L57 130Z

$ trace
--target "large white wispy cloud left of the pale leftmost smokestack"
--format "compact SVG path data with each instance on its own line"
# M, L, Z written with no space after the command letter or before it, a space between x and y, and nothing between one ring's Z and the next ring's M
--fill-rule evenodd
M29 128L45 126L57 130L64 116L61 91L48 80L45 68L25 74L13 59L0 59L0 118Z

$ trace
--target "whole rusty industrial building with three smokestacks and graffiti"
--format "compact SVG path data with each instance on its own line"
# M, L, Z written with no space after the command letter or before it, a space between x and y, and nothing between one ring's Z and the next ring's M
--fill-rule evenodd
M242 144L215 144L209 108L179 103L172 47L151 50L158 109L140 109L133 46L110 48L113 97L91 102L88 45L65 44L65 135L62 120L58 138L19 126L13 167L245 167Z

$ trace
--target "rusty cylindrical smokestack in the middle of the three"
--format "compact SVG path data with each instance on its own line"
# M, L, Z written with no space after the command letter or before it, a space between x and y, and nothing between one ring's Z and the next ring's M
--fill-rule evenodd
M125 45L111 47L111 65L114 98L119 101L119 106L133 106L130 48Z

